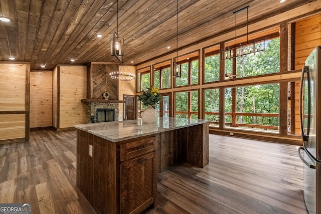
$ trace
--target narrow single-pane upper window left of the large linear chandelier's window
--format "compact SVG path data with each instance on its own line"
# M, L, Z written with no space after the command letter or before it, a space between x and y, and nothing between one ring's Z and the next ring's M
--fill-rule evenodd
M220 46L205 50L204 83L220 80Z

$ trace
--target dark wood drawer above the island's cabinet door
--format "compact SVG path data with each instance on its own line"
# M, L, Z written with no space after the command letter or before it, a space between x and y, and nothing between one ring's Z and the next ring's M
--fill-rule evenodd
M154 151L156 141L156 137L148 137L146 139L120 145L120 161L139 157L151 151Z

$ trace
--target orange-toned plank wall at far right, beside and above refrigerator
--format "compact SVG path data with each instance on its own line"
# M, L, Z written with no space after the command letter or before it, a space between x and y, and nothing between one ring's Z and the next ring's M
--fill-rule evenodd
M306 58L316 46L321 45L321 14L295 23L295 69L302 69ZM299 116L300 82L295 82L295 134L300 135Z

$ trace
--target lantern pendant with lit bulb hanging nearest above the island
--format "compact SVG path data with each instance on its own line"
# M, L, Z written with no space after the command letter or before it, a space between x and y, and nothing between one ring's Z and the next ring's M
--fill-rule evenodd
M110 40L110 55L115 56L120 62L124 56L124 39L118 37L118 0L116 1L116 32L113 32Z

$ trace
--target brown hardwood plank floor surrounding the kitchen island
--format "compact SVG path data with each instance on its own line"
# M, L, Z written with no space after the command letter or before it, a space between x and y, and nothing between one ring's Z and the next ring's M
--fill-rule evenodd
M307 213L297 146L209 139L210 163L158 173L157 206L144 213ZM76 186L76 131L0 145L0 203L25 202L33 213L94 213Z

